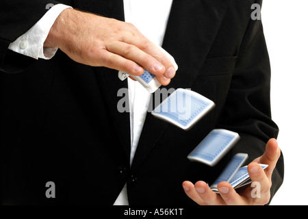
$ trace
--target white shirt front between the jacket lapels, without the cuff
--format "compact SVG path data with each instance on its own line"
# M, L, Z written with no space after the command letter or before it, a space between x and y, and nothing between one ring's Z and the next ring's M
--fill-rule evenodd
M162 46L172 0L124 0L125 21L135 25L155 44ZM142 132L151 94L128 78L131 123L131 163ZM114 205L129 205L126 184Z

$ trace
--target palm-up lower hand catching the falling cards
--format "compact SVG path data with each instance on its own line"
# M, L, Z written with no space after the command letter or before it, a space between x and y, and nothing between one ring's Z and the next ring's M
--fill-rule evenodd
M199 205L265 205L270 201L270 188L272 186L272 172L280 157L281 151L275 139L270 139L266 144L264 155L255 159L248 165L248 173L251 181L259 182L261 186L260 198L251 196L251 186L236 192L230 183L218 184L218 191L213 192L207 183L198 181L195 184L190 181L183 182L185 193ZM268 164L263 170L259 164Z

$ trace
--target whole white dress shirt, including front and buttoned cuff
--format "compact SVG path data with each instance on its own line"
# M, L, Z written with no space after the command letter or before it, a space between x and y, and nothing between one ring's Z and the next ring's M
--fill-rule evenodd
M162 46L172 0L123 0L123 3L125 21L135 25L146 38ZM9 49L36 59L51 59L57 48L44 48L43 44L55 19L66 8L70 6L62 4L53 6L34 27L12 42ZM127 80L131 127L130 163L132 163L146 119L151 94L137 81L129 78ZM114 205L129 205L126 184Z

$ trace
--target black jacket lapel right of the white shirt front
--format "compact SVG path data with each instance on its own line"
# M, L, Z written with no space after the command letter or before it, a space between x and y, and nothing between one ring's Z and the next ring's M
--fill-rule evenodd
M192 87L226 9L227 3L224 0L173 1L163 47L175 57L179 70L166 89ZM155 92L153 95L157 94ZM152 99L155 98L152 96ZM153 106L156 107L155 103ZM151 113L147 114L132 171L142 163L167 127L167 123L154 118Z

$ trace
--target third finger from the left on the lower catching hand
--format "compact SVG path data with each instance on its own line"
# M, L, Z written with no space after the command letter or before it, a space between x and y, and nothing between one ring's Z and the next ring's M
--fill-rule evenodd
M230 183L221 182L217 185L218 192L226 205L246 205L246 198L240 196Z

